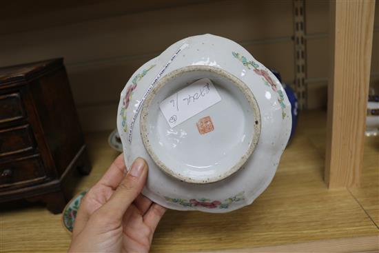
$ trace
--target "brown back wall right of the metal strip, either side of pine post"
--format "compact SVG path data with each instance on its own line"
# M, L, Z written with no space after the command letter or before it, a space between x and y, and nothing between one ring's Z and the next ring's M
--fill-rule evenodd
M371 57L371 87L379 92L379 1L376 1ZM325 108L329 75L329 2L305 1L307 32L307 108Z

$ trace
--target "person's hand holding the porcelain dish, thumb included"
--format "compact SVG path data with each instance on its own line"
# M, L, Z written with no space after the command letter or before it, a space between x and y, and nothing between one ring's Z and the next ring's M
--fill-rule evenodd
M69 252L148 252L165 208L141 195L147 163L138 158L126 172L123 154L85 194Z

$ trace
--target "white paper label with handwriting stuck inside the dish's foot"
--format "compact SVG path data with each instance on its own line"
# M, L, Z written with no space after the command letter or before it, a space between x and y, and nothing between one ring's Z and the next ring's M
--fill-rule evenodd
M167 97L159 108L170 128L174 128L219 101L221 97L212 81L203 78Z

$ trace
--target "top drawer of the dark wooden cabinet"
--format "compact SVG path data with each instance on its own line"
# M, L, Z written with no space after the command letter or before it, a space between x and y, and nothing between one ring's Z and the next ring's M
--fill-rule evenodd
M0 123L25 117L19 92L0 95Z

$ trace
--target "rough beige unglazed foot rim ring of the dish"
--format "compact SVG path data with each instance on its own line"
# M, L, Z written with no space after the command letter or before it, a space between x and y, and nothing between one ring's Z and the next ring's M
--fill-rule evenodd
M229 170L217 176L216 178L210 178L207 180L198 180L198 179L190 178L188 176L183 176L182 174L177 173L175 170L172 170L172 168L169 168L165 163L163 163L159 159L159 157L154 152L152 145L150 144L148 131L147 131L147 115L149 114L149 108L150 108L150 105L152 104L152 101L155 95L158 94L161 88L163 88L163 86L171 79L174 79L178 77L178 75L181 75L183 73L196 72L196 71L211 72L213 74L222 76L225 79L228 79L230 83L235 85L240 90L240 92L242 92L245 95L245 98L249 102L250 108L252 112L254 113L254 119L255 119L254 131L252 132L252 141L250 141L245 154L240 156L239 161L236 164L234 164L231 168L229 168ZM158 168L161 168L163 172L165 172L166 174L169 174L170 176L173 176L174 178L180 181L187 182L187 183L198 183L198 184L215 183L237 172L243 166L243 164L247 161L247 159L249 159L249 156L251 156L252 153L254 152L254 149L256 148L256 145L259 140L260 129L261 129L260 109L256 101L256 98L254 97L254 94L252 93L252 90L250 90L250 88L247 87L247 85L243 83L243 81L235 77L233 74L230 74L229 72L221 68L215 68L215 67L211 67L207 65L186 66L184 68L179 68L177 70L174 70L166 74L160 81L156 83L155 87L152 89L150 94L147 95L145 102L143 104L143 108L141 110L140 131L141 131L141 137L143 140L143 145L145 146L145 149L147 150L148 154L150 154L154 163L156 163Z

